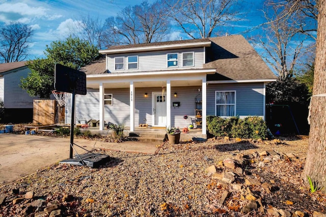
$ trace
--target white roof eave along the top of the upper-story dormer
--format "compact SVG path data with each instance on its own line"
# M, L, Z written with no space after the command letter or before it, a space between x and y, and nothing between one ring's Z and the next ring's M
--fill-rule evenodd
M131 52L133 53L133 52L172 50L172 49L193 48L193 47L210 47L210 45L211 45L211 41L183 43L183 44L175 44L175 45L158 45L158 46L150 46L150 44L149 44L149 46L146 46L146 47L99 50L99 53L101 53L101 54L131 53Z

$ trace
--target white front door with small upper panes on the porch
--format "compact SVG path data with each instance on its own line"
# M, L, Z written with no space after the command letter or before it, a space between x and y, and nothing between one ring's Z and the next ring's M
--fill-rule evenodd
M153 92L153 126L165 127L167 125L167 94L164 92Z

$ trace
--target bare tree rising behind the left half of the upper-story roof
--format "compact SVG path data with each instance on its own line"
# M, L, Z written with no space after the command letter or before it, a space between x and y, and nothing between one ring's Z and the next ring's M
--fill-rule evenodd
M139 44L161 41L169 21L165 6L159 2L124 8L116 17L105 20L107 45Z

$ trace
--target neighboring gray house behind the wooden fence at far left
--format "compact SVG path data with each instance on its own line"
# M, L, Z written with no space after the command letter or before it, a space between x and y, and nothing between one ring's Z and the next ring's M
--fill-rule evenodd
M0 64L0 99L4 102L4 117L1 122L31 122L33 100L26 90L19 87L20 79L31 70L26 61Z

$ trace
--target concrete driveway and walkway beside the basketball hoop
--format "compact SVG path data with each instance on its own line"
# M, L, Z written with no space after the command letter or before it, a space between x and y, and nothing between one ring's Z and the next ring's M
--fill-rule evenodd
M154 154L156 145L159 144L138 141L110 143L83 139L74 139L74 143L87 150L105 148L148 154ZM69 138L0 134L0 185L69 159L69 144ZM76 151L79 154L86 152L78 147Z

